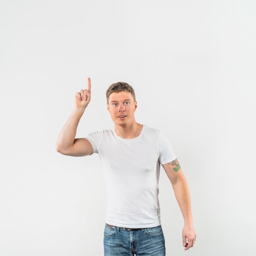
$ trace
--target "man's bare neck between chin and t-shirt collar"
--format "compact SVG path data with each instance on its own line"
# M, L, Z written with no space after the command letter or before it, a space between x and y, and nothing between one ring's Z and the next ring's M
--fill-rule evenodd
M142 128L143 125L138 123L127 126L115 125L115 132L123 139L134 139L140 135Z

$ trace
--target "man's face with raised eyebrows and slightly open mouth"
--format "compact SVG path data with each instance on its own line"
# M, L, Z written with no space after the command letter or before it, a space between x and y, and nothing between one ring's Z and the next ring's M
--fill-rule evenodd
M135 122L137 101L134 101L130 92L113 92L108 98L107 106L115 124L126 126Z

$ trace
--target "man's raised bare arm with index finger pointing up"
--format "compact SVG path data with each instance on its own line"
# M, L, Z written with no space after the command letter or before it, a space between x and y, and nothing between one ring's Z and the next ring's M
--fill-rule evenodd
M75 157L91 155L93 148L87 139L76 139L79 121L91 99L91 79L88 78L87 90L81 90L75 95L75 108L62 128L56 142L56 150L63 155Z

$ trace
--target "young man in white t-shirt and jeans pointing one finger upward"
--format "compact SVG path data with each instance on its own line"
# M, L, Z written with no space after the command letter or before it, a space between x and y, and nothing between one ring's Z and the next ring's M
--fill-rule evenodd
M70 156L98 153L107 189L104 230L105 256L164 256L158 180L160 164L171 181L184 217L185 250L195 243L189 188L168 139L160 130L135 121L137 101L127 83L110 85L107 106L115 127L75 138L79 121L91 99L88 89L75 96L75 108L57 139L56 150Z

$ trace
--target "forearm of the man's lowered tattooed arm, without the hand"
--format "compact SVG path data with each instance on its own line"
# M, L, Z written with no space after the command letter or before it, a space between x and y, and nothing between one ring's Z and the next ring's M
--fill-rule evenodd
M183 176L175 184L172 184L176 200L179 204L185 224L193 223L189 187Z

